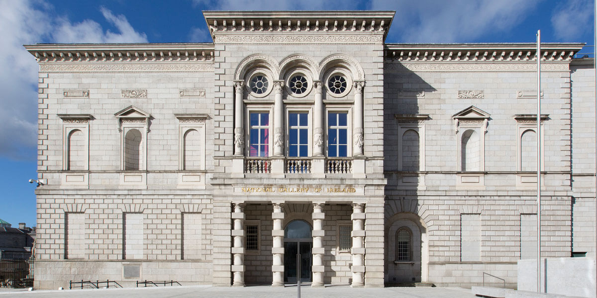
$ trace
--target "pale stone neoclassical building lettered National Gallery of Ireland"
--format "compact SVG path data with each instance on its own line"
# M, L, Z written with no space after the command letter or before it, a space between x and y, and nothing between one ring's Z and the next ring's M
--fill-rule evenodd
M393 15L206 11L213 43L27 45L36 288L514 287L537 138L542 254L593 256L583 44L542 45L538 134L535 44L390 44Z

